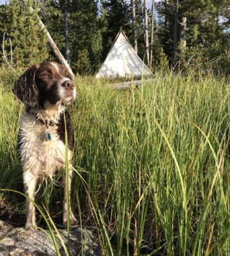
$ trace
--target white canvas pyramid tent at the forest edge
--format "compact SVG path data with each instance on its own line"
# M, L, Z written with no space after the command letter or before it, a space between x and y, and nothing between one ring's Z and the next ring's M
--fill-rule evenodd
M141 58L139 58L130 42L128 42L127 36L120 29L104 63L96 74L96 78L116 76L140 77L142 74L148 76L152 73Z

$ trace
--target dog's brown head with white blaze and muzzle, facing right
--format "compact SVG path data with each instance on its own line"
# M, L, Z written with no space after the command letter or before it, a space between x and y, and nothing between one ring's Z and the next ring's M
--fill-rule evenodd
M45 108L47 104L69 104L75 100L73 77L56 62L43 62L26 70L13 86L13 93L27 109Z

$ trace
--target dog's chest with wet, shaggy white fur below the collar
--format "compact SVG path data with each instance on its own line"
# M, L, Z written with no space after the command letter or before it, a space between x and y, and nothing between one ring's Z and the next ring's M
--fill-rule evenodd
M51 140L47 139L45 124L31 115L23 115L20 122L20 156L24 170L36 176L52 174L65 166L65 144L59 139L57 126L49 126ZM68 159L71 152L68 150Z

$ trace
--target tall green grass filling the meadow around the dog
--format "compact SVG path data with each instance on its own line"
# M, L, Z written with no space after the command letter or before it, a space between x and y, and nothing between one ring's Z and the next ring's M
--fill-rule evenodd
M0 188L22 191L15 153L22 106L0 77ZM228 255L229 83L167 71L140 90L77 77L77 92L73 209L95 227L104 254ZM57 221L61 189L49 184L44 195ZM24 198L12 196L1 198L23 213Z

